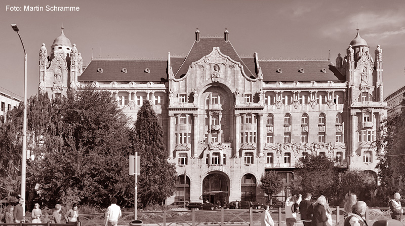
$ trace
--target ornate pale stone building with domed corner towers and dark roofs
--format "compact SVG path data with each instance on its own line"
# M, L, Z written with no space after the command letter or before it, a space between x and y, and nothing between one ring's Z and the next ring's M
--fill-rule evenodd
M50 56L41 48L39 92L58 96L93 84L110 91L134 120L151 101L179 175L168 203L265 201L260 177L277 171L288 187L295 162L309 153L376 177L373 142L387 114L379 46L374 60L357 33L336 64L261 60L257 53L239 56L228 35L200 37L197 29L187 56L94 59L82 71L80 54L62 32Z

